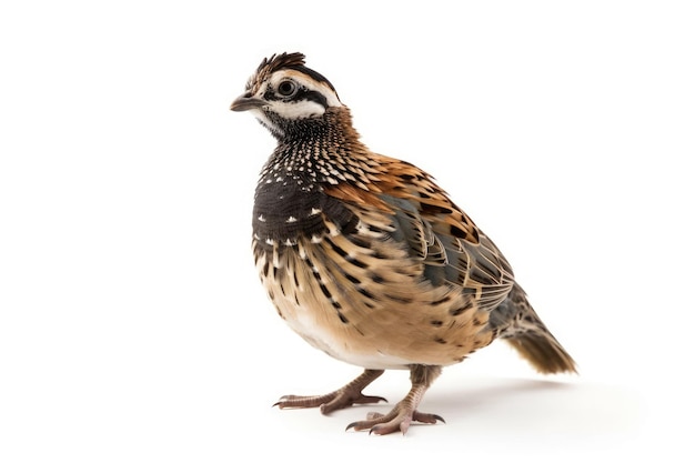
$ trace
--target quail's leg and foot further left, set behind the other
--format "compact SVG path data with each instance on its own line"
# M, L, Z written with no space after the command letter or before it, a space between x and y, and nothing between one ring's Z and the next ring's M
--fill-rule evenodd
M383 370L364 370L364 372L341 389L324 395L283 395L278 405L280 409L311 409L318 406L321 413L328 414L356 403L387 402L384 397L364 395L362 390L382 375Z

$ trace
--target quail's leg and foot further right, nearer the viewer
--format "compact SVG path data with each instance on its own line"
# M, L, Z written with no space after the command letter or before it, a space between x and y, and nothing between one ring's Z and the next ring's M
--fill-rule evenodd
M348 430L362 431L369 429L370 434L390 434L401 431L405 434L413 421L430 424L436 423L437 420L444 422L444 419L439 415L420 413L416 410L425 391L441 372L441 366L411 365L411 383L413 385L405 399L399 402L387 414L367 413L366 420L349 424Z

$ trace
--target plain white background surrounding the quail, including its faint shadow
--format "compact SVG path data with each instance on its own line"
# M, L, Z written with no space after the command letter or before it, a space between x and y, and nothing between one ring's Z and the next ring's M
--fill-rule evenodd
M687 3L3 2L0 460L692 457ZM273 140L229 104L282 51L495 240L581 375L493 344L425 396L447 424L405 437L343 432L385 405L271 407L360 372L252 264Z

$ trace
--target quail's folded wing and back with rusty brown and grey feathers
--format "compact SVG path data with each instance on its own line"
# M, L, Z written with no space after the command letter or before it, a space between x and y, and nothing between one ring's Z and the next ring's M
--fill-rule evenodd
M391 215L390 236L424 263L423 276L433 285L462 286L485 310L504 301L514 276L494 243L429 174L392 158L370 158L376 162L371 163L369 183L330 185L326 194L344 201L357 215L367 211Z

